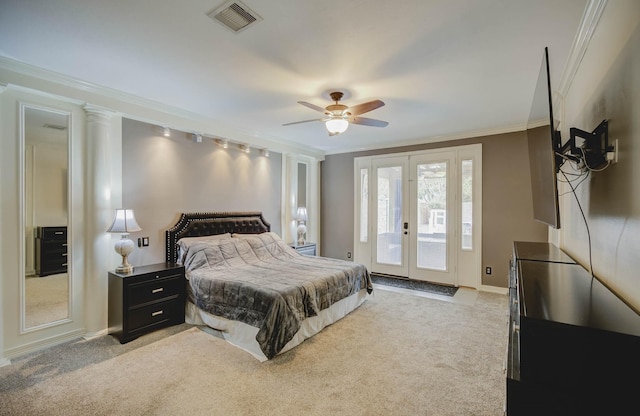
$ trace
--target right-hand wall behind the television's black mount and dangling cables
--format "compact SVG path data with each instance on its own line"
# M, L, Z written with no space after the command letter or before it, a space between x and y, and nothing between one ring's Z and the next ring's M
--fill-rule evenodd
M640 2L608 2L565 98L562 135L609 120L619 162L578 188L595 275L640 310ZM558 240L589 268L587 228L567 196Z

